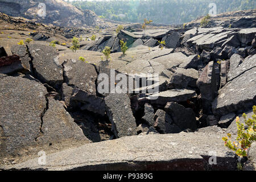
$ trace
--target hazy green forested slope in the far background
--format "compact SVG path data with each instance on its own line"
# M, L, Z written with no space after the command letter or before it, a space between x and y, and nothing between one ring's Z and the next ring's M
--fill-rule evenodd
M256 9L255 2L255 0L110 0L69 3L82 10L92 10L101 18L121 22L137 23L147 18L159 24L181 24L207 15L210 10L209 3L215 3L217 14L220 14L228 11Z

